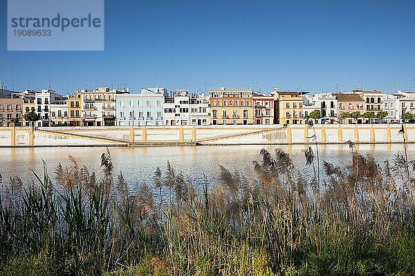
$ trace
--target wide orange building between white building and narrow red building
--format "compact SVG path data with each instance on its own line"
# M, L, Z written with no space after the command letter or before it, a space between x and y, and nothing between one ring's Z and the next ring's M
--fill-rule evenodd
M210 121L214 125L254 124L252 90L209 90Z

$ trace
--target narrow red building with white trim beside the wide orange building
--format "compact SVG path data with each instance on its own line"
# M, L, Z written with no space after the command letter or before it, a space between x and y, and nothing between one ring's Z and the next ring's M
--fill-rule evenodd
M254 102L254 124L270 125L274 124L274 95L264 95L252 92Z

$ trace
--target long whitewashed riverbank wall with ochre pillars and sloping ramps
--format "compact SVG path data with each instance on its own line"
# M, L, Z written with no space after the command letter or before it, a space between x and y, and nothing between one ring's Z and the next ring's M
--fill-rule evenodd
M415 143L415 125L0 128L0 147Z

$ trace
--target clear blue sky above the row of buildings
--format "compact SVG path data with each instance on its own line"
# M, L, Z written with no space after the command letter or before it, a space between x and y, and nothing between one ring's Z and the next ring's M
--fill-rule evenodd
M395 92L415 86L414 1L105 1L104 52L8 52L0 79L58 92L128 83ZM122 4L121 4L122 3Z

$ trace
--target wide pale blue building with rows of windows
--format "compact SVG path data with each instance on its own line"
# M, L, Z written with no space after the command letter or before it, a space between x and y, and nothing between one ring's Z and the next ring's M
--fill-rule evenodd
M140 94L118 94L117 126L163 126L165 88L141 88Z

